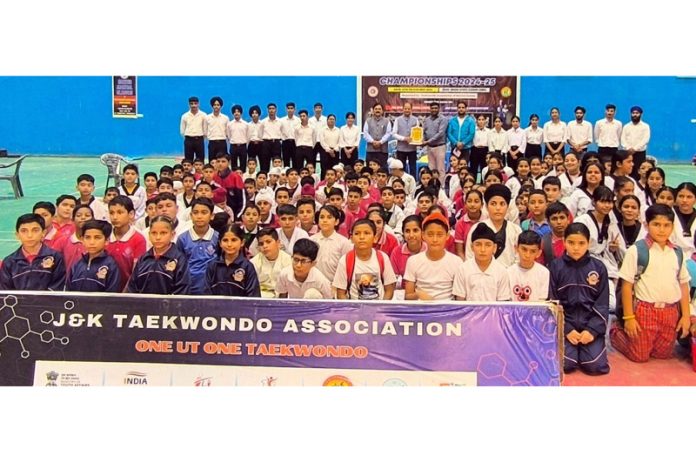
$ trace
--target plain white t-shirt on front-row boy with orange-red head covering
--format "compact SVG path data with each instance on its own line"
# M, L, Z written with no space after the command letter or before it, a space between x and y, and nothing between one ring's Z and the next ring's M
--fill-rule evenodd
M406 262L404 281L416 283L416 289L426 292L435 300L451 300L452 284L462 259L445 252L439 260L431 260L426 252L411 256Z

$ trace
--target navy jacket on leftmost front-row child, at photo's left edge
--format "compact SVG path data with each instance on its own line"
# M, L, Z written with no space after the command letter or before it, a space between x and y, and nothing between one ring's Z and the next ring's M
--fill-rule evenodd
M5 258L0 269L0 290L63 290L65 263L60 252L41 244L29 263L20 247Z

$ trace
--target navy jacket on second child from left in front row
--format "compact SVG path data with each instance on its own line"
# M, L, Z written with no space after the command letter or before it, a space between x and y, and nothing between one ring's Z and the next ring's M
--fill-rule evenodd
M120 292L121 270L106 252L89 261L89 254L75 262L65 283L65 290L75 292Z

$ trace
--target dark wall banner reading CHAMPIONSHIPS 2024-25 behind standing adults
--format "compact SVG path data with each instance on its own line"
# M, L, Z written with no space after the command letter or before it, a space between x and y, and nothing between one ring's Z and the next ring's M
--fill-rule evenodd
M466 101L468 114L484 114L492 125L500 116L505 128L511 127L517 111L515 76L363 76L362 114L366 120L375 103L381 103L386 116L400 116L410 102L413 114L426 117L430 103L440 103L440 114L457 114L457 102Z

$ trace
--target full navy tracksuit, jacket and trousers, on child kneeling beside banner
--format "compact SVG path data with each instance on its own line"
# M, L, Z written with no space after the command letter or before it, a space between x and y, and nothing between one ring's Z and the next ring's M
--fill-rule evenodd
M549 265L552 300L559 300L565 314L564 335L589 331L594 341L573 345L565 339L565 370L578 367L590 374L609 372L604 334L609 319L609 276L601 260L586 253L573 260L564 253Z

